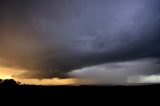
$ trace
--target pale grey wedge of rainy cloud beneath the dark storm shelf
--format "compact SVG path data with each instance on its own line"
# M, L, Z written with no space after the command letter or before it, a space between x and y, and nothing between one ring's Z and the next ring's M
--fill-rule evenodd
M70 76L94 80L95 84L135 84L140 76L159 73L157 59L138 59L124 62L107 63L70 72ZM157 74L158 75L158 74Z

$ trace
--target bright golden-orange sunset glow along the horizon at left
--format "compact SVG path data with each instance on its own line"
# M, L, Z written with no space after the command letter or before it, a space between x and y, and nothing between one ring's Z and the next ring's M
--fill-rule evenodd
M14 68L6 68L0 66L0 79L14 79L21 84L33 84L33 85L81 85L81 84L94 84L95 81L89 79L78 79L78 78L68 78L68 79L23 79L16 78L14 76L24 73L24 70L18 70Z

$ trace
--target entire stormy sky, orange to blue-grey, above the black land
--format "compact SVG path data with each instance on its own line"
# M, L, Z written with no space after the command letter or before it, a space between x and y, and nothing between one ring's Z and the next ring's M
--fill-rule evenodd
M0 0L0 78L160 82L159 0Z

